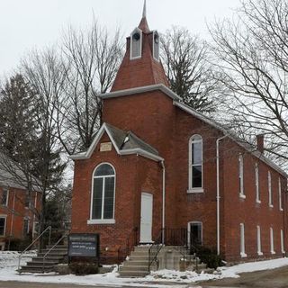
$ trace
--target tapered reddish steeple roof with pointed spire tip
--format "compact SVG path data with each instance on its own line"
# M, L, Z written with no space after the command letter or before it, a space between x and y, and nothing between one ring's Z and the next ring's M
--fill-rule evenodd
M140 57L131 58L131 37L127 38L126 53L122 59L111 91L119 91L146 85L163 84L168 86L168 80L161 61L154 57L154 34L147 22L146 0L138 29L141 31ZM135 31L135 30L134 30ZM134 32L133 32L134 33ZM132 34L133 34L132 33Z

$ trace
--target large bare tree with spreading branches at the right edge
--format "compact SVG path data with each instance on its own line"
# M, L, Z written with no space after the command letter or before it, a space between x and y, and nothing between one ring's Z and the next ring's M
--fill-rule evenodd
M242 1L236 21L211 28L217 80L226 96L224 119L249 137L266 134L267 151L287 159L288 3ZM285 153L284 153L285 151Z

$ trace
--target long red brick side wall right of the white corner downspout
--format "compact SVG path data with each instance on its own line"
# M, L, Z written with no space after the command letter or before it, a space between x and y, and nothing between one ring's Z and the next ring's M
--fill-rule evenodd
M223 170L221 177L221 213L225 215L222 222L221 247L227 260L245 260L240 257L240 223L245 225L245 249L247 258L281 257L280 230L284 230L284 213L279 210L278 177L279 174L257 157L253 157L243 148L230 140L222 146ZM244 193L246 199L239 197L238 155L244 157ZM259 167L260 201L256 202L255 164ZM271 172L274 208L269 207L268 170ZM284 191L285 180L281 176ZM285 206L283 195L283 207ZM257 255L257 225L261 228L261 246L263 256ZM270 253L270 227L274 229L275 255Z

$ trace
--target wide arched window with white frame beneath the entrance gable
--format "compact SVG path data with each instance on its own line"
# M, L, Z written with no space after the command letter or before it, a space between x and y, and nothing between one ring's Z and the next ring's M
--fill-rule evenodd
M110 164L96 167L92 191L91 220L114 219L115 170Z

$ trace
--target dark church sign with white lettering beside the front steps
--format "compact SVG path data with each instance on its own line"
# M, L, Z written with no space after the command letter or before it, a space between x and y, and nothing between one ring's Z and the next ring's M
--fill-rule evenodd
M68 257L99 257L99 234L70 234Z

